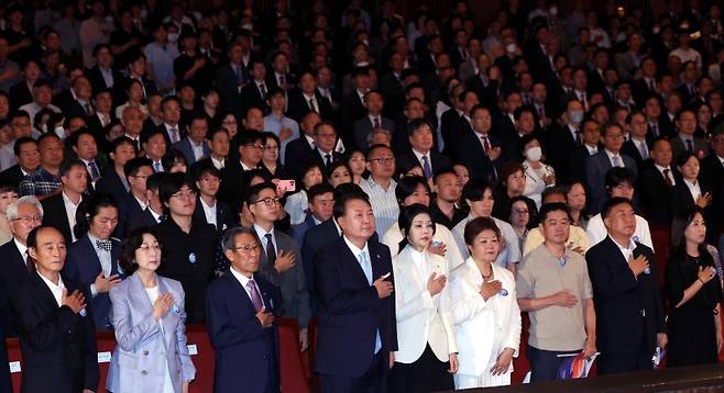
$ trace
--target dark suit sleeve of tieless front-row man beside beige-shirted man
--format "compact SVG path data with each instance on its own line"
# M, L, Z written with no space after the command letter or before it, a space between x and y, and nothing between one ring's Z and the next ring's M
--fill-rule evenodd
M616 249L613 251L618 252ZM634 291L638 287L638 281L628 268L615 273L611 269L613 256L600 254L602 254L601 250L597 250L597 252L589 251L585 255L591 283L596 292L595 295L605 299L616 297L623 293Z

